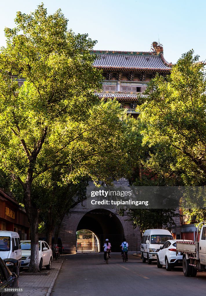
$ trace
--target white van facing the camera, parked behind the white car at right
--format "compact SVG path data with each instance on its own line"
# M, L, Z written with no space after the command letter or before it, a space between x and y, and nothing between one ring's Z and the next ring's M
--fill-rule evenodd
M157 260L157 252L160 247L169 240L173 239L172 234L166 229L147 229L145 230L141 241L141 259L148 264Z

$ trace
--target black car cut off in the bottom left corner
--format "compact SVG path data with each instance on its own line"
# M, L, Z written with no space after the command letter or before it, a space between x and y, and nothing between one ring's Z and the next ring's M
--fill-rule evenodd
M15 260L15 259L13 259ZM2 289L18 288L18 277L11 272L4 261L0 258L0 296L16 296L18 292L2 292Z

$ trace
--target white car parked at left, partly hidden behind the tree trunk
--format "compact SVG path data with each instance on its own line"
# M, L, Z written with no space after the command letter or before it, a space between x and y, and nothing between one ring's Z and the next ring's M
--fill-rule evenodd
M21 268L28 268L31 258L31 241L21 241L21 252ZM52 250L48 244L45 241L39 241L39 270L42 270L42 266L50 270L52 259Z

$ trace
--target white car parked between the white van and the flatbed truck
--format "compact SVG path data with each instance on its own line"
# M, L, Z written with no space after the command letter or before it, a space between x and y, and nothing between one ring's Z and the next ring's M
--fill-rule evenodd
M182 266L182 255L180 252L176 255L176 239L165 242L157 253L157 267L162 268L163 265L167 271L175 266Z

